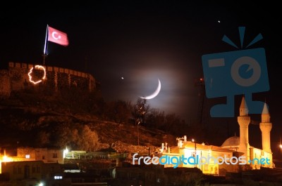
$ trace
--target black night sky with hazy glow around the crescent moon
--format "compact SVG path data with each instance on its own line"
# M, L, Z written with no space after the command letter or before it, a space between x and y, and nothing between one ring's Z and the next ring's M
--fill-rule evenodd
M92 74L101 84L106 101L135 102L139 96L154 92L159 79L161 91L147 103L176 113L189 123L197 119L199 87L195 87L194 79L203 76L202 55L238 50L221 39L225 34L240 46L238 27L245 26L245 44L259 33L263 36L250 48L266 50L270 90L254 98L269 105L271 145L275 149L282 130L279 6L265 2L197 2L93 1L91 5L2 7L0 67L6 67L9 61L42 65L48 24L66 32L70 44L64 47L49 42L46 65ZM240 101L241 96L236 95L235 100ZM239 105L235 102L236 112ZM204 110L209 112L209 105ZM207 121L210 126L223 123L228 135L238 133L236 118ZM260 145L259 129L255 127L250 135L258 136L253 143Z

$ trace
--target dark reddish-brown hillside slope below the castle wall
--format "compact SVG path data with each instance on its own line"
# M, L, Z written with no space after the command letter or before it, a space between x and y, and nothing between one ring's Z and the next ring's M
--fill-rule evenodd
M73 113L69 105L64 105L67 105L66 102L56 96L36 92L16 93L11 98L0 100L0 147L72 146L74 135L76 140L87 138L87 134L80 132L81 126L89 126L97 133L97 150L147 152L149 147L150 150L161 147L162 142L176 145L176 136L163 131L125 122L104 121L89 112Z

